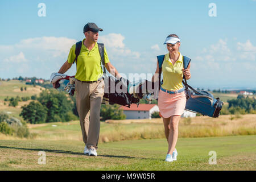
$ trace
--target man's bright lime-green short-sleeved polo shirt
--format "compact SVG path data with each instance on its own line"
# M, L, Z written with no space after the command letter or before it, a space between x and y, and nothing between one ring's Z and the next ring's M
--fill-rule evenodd
M85 39L84 39L85 40ZM84 42L82 40L82 42ZM76 44L74 44L68 55L68 63L73 63L76 58ZM104 47L105 64L109 63L109 57ZM103 75L101 68L101 56L98 51L98 43L89 51L82 43L80 55L77 57L75 78L80 81L96 81Z

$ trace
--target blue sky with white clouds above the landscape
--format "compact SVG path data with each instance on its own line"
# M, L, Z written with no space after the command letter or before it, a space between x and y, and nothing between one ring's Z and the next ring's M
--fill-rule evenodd
M39 17L39 3L46 16ZM217 16L210 17L210 3ZM82 28L104 31L110 62L125 75L152 74L169 34L192 59L196 88L256 88L256 1L6 1L0 2L0 77L49 79L82 40ZM75 65L67 72L75 75Z

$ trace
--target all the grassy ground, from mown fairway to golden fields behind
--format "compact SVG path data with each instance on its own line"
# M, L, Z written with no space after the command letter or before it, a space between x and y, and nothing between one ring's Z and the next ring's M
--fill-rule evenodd
M11 80L0 82L0 111L19 118L22 105L4 105L6 96L32 96L39 86ZM26 92L20 87L27 86ZM233 95L214 95L226 102ZM219 118L182 118L177 161L164 162L168 144L162 119L126 119L101 122L97 157L84 155L79 121L27 124L32 138L0 133L0 170L255 170L256 114L220 115ZM46 164L38 164L39 151ZM217 164L209 164L210 151Z

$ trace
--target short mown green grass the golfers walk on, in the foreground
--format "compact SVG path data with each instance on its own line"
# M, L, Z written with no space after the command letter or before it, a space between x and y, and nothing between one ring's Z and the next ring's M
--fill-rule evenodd
M101 143L98 156L74 140L1 140L0 170L255 170L256 136L179 138L177 161L164 162L166 139ZM38 164L46 152L46 165ZM217 164L210 165L209 151Z

